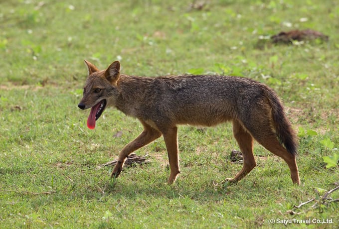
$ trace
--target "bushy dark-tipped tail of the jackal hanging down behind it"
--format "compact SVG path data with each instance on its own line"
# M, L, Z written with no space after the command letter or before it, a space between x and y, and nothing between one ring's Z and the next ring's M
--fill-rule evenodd
M290 120L287 118L284 112L284 107L273 91L266 91L266 94L272 107L273 125L280 143L285 146L288 152L293 155L297 155L297 135L292 128Z

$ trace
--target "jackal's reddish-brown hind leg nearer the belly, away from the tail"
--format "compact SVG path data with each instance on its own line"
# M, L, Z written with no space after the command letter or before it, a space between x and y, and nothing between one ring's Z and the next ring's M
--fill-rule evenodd
M236 183L245 177L257 164L253 156L253 137L242 125L233 120L233 135L238 142L240 151L244 158L244 165L241 171L233 178L226 178L225 182Z

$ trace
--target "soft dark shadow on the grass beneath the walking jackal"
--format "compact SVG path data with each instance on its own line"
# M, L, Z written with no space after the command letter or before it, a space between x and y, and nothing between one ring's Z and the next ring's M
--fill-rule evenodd
M127 174L125 174L127 175ZM128 179L127 176L105 179L98 184L101 195L113 199L136 200L143 197L180 199L189 198L199 202L219 201L230 198L229 194L245 189L240 183L224 185L210 179L177 179L173 185L167 184L167 173L158 174L155 179ZM248 188L248 187L246 187ZM87 190L97 192L98 190ZM93 193L92 193L93 194ZM99 193L97 193L99 194ZM99 194L100 195L100 194Z

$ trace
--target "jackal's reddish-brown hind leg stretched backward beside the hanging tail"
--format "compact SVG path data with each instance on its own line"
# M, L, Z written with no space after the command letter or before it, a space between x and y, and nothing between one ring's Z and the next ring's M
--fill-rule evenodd
M270 130L272 132L272 130ZM278 141L275 133L271 133L265 138L256 139L262 146L273 154L283 158L291 171L291 179L295 184L300 185L298 166L296 161L296 156L292 153L289 153Z

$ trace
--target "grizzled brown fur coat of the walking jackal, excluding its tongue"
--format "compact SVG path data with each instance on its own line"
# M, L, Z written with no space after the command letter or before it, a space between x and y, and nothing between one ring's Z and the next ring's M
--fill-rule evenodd
M213 126L231 120L244 165L233 179L226 181L237 182L256 166L255 139L283 158L290 168L293 183L300 184L295 132L277 95L266 85L230 76L137 77L120 74L118 61L102 71L85 63L89 76L79 108L92 108L106 100L107 106L138 118L144 126L143 132L121 150L112 177L121 173L130 153L163 135L170 165L168 183L171 184L180 173L177 125Z

